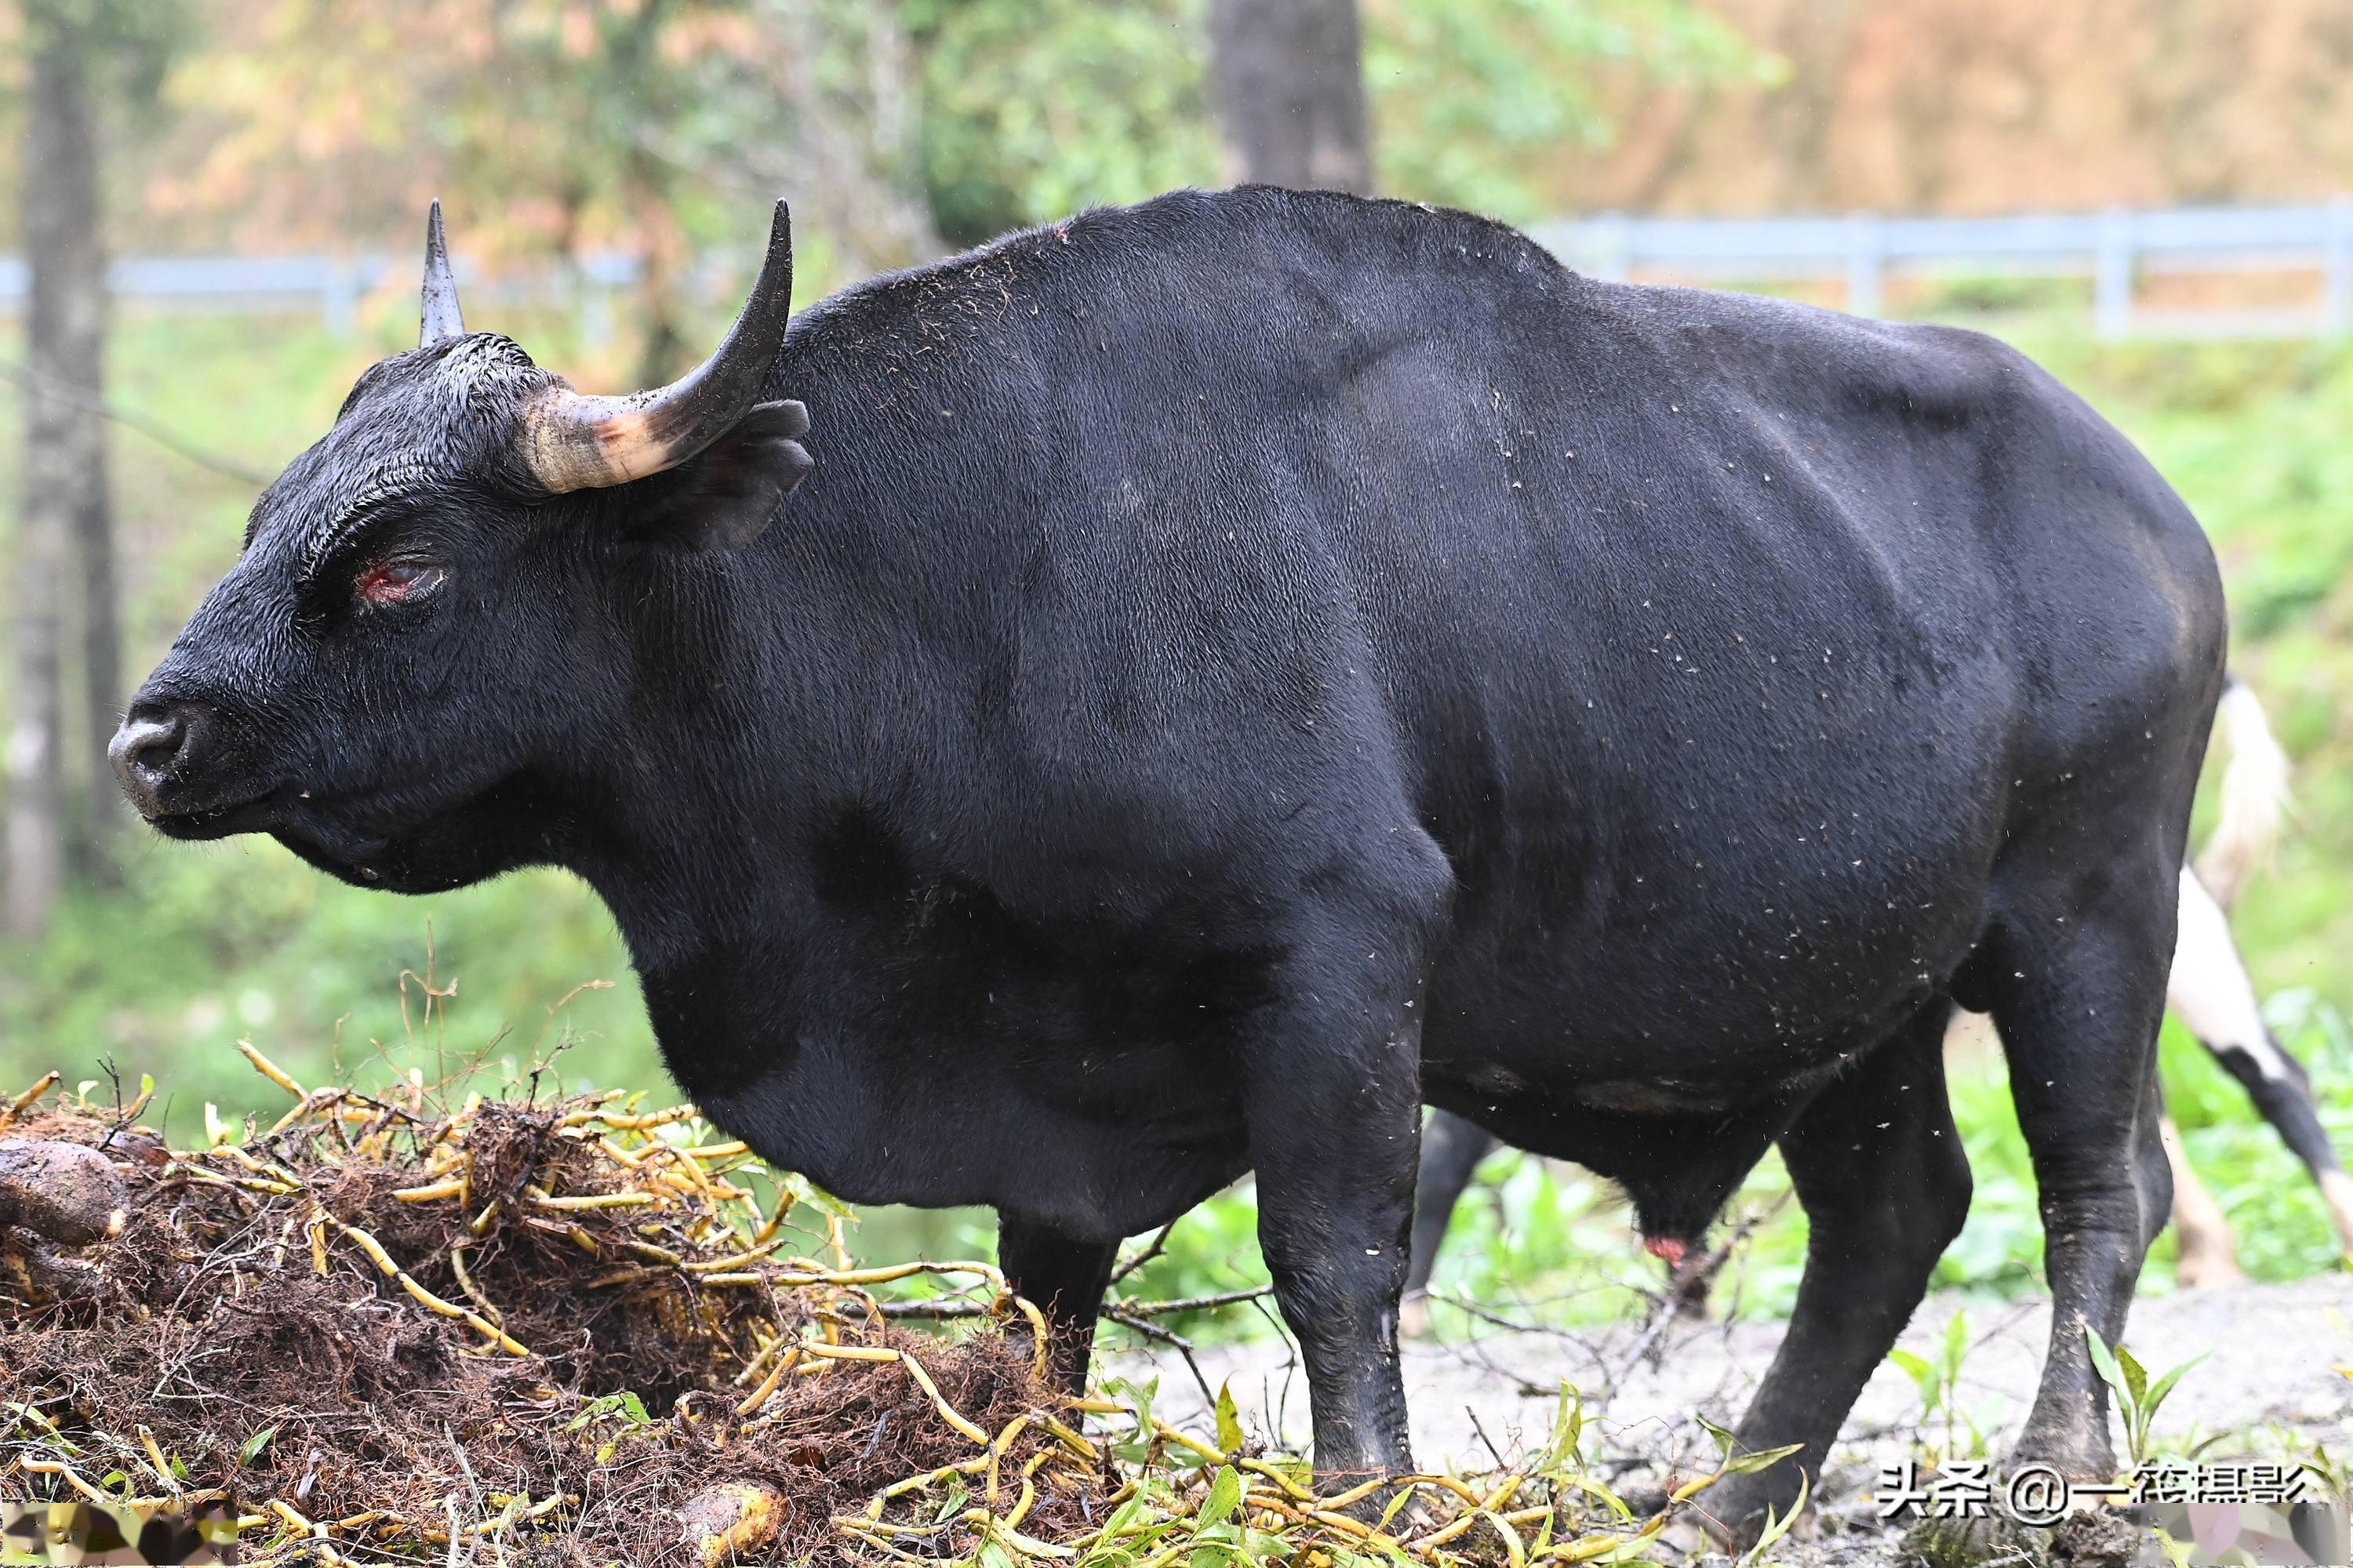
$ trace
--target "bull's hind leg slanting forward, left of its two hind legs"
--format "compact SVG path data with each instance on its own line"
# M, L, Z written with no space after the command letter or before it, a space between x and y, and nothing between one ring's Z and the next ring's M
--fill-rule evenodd
M1701 1493L1699 1507L1734 1535L1767 1505L1786 1512L1800 1472L1821 1476L1840 1422L1969 1213L1969 1161L1944 1093L1946 1011L1934 1004L1897 1030L1781 1135L1807 1218L1805 1279L1739 1441L1802 1450Z

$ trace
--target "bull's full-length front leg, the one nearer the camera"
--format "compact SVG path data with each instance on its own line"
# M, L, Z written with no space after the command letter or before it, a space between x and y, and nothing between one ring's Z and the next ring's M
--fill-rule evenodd
M1259 1246L1308 1375L1315 1481L1344 1490L1412 1469L1398 1298L1421 1147L1421 1020L1419 964L1407 969L1395 940L1339 938L1327 957L1254 1020L1242 1105Z

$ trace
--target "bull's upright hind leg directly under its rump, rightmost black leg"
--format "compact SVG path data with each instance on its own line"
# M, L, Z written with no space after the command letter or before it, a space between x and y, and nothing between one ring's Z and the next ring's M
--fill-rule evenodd
M2106 1481L2108 1392L2085 1328L2125 1333L2132 1286L2172 1211L2158 1133L2158 1020L2174 950L2174 867L2113 865L2097 903L2026 905L1991 954L1993 1020L2042 1204L2052 1342L2021 1458Z

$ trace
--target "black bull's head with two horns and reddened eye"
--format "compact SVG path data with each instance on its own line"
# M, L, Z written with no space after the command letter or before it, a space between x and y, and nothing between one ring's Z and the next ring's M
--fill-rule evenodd
M139 813L407 891L544 858L560 776L621 726L626 665L584 672L616 668L649 557L748 543L809 470L807 411L760 400L791 294L779 202L718 353L588 397L466 331L435 205L419 346L261 494L108 748Z

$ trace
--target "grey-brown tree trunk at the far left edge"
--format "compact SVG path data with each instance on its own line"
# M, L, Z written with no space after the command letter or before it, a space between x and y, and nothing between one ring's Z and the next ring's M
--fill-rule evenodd
M85 625L94 661L89 708L113 733L113 541L99 397L106 275L99 254L99 169L87 38L49 7L26 7L33 73L24 122L24 247L33 270L26 310L24 470L16 508L16 715L7 771L7 929L38 936L66 872L64 616L66 557L82 545ZM104 574L104 583L101 583ZM99 686L99 682L106 682ZM101 773L104 778L104 773Z

